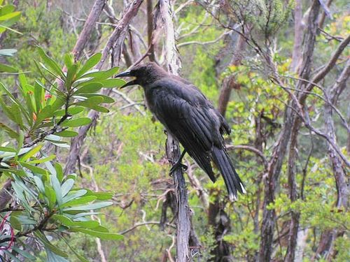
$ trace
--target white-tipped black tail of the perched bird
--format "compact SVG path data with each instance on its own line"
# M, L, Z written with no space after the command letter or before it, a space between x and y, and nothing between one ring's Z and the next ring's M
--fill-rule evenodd
M237 191L239 191L241 194L245 194L246 189L244 189L244 185L233 167L226 150L213 147L212 153L213 161L223 175L223 180L225 181L226 188L228 189L230 200L232 201L237 199Z

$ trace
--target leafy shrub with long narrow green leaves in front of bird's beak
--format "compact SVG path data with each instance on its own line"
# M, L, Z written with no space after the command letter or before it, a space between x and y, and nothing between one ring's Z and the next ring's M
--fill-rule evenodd
M69 147L64 139L78 134L74 128L91 122L81 116L85 108L109 112L102 104L113 103L113 99L97 92L102 87L119 87L124 81L111 78L117 67L108 71L92 69L101 54L94 54L85 63L66 54L66 71L41 48L38 55L41 61L36 61L36 66L42 80L31 85L20 73L18 96L0 83L0 106L8 118L6 123L0 123L8 135L8 141L0 147L0 173L11 180L13 188L13 203L0 210L1 229L4 225L8 228L1 235L0 249L13 259L20 254L35 260L33 250L26 245L30 237L45 249L49 261L65 261L68 255L52 245L53 237L65 240L64 235L73 232L103 240L119 240L123 236L110 233L91 218L102 214L97 210L112 205L109 200L113 194L73 187L76 174L64 175L55 155L45 154L48 150L43 150L43 146L51 143Z

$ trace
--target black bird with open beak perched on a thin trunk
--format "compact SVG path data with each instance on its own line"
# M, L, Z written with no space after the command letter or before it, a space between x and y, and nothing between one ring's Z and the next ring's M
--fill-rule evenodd
M183 145L184 151L171 173L174 168L183 166L181 160L188 152L213 182L216 178L211 160L214 161L223 175L231 200L237 198L237 191L246 192L225 149L223 135L230 134L230 126L200 89L153 62L133 66L130 71L116 75L117 78L126 76L135 79L123 87L141 85L149 110Z

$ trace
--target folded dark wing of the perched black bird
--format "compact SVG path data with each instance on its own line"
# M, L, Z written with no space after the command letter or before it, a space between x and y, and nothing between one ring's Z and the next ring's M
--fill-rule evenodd
M222 137L220 119L207 105L209 101L197 88L174 80L155 82L146 98L155 116L215 181L210 154L214 144L221 144L217 140Z

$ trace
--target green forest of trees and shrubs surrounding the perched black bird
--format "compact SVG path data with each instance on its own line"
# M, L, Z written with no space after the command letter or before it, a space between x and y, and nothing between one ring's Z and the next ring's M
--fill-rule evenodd
M187 259L350 261L347 1L1 5L4 261L175 261L167 136L113 78L140 59L225 115L247 189L231 203L185 158Z

